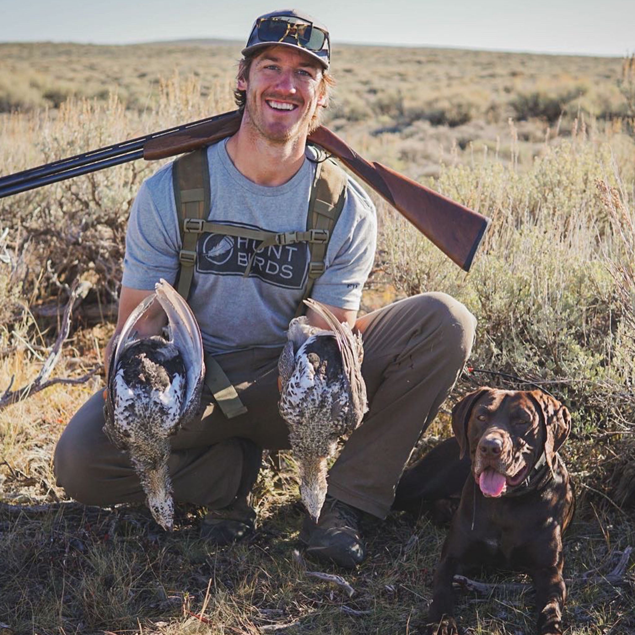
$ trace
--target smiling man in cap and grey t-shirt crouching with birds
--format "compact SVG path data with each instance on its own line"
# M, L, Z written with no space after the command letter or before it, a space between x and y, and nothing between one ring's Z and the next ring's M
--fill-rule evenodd
M332 83L328 31L298 11L258 18L243 56L236 91L243 109L240 128L206 151L211 191L206 218L234 234L199 237L189 304L206 352L247 411L226 417L213 389L206 388L201 417L173 437L170 457L175 499L210 509L201 535L218 544L253 531L255 511L237 500L253 485L260 448L288 448L277 412L276 364L286 326L302 301L311 257L302 243L255 253L257 242L237 234L240 228L288 232L307 226L320 160L307 148L307 135L328 105ZM160 277L171 283L178 277L182 239L174 170L170 164L157 171L135 200L116 333ZM373 204L349 178L311 295L363 333L370 411L330 471L318 525L307 521L302 533L307 551L341 566L364 558L362 512L384 518L389 511L413 446L469 356L475 328L467 309L441 293L407 298L358 318L376 233ZM308 317L321 325L316 314ZM140 330L154 334L163 323L157 310ZM107 354L111 347L112 340ZM58 482L86 504L143 502L126 455L102 432L102 408L99 392L69 422L55 453Z

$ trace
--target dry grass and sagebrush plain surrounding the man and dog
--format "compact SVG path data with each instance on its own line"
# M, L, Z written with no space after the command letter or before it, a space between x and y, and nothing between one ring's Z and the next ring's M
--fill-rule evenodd
M22 112L0 115L0 173L231 109L238 50L1 44L0 109ZM608 573L635 542L632 63L342 47L334 72L332 128L369 159L493 218L465 275L380 204L364 308L447 291L479 318L471 364L485 371L466 373L457 394L530 380L565 399L574 431L564 454L578 492L565 541L568 632L635 632L632 565L622 585L584 577ZM137 162L0 201L0 391L37 374L58 326L44 309L64 305L74 279L93 285L84 304L107 314L131 200L154 168ZM54 375L77 377L101 361L112 323L87 316L78 311ZM349 598L293 556L302 511L289 456L279 473L265 466L257 535L235 547L197 539L198 509L180 509L166 535L143 508L68 502L53 447L98 385L56 386L0 411L2 635L420 632L445 530L398 514L367 519L370 558L345 574ZM431 433L448 434L447 411ZM503 586L491 597L461 593L458 611L469 632L517 635L533 632L531 601Z

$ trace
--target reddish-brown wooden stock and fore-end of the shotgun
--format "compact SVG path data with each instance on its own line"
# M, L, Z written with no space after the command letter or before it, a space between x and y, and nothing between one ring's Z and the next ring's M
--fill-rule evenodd
M234 110L215 121L152 138L144 145L144 159L163 159L213 144L233 135L238 130L240 121L241 114ZM309 141L337 157L410 220L453 262L464 271L470 270L474 255L490 224L489 218L381 163L369 163L324 126L311 133Z

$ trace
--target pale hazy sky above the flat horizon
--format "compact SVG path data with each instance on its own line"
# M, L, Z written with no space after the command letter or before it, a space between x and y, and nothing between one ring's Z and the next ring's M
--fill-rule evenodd
M253 20L295 6L335 43L623 56L635 52L635 0L0 0L0 42L129 44L246 40ZM2 60L0 59L0 65Z

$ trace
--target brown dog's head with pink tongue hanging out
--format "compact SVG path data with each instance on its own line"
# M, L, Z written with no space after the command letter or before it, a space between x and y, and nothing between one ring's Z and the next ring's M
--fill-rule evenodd
M523 483L543 455L552 469L554 455L571 431L571 417L542 391L483 387L453 408L452 429L461 457L469 450L472 474L483 494L498 497Z

